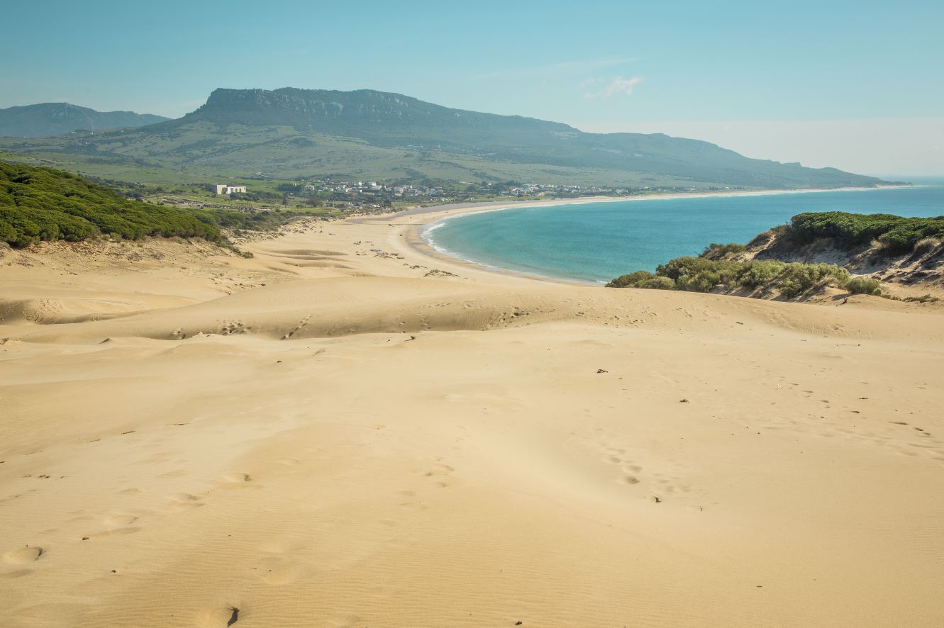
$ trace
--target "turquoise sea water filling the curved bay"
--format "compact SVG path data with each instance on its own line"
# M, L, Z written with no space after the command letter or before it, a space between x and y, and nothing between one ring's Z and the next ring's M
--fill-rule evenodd
M423 238L489 267L606 282L711 242L746 243L804 211L944 216L944 185L521 207L432 223Z

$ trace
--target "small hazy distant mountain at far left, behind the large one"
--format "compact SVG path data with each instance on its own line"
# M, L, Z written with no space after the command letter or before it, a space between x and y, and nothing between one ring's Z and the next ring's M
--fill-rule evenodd
M42 103L0 109L0 136L36 138L79 129L101 130L155 124L163 116L134 111L95 111L69 103Z

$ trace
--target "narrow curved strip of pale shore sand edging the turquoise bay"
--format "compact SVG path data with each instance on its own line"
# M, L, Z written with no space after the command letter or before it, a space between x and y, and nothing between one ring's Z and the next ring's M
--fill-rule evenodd
M919 188L924 186L875 186L870 188L833 188L833 189L808 189L808 190L737 190L737 191L706 191L706 192L678 192L669 194L651 194L647 196L591 196L580 199L548 199L533 201L488 201L482 203L464 203L447 204L429 207L411 207L410 209L397 213L384 214L367 220L356 220L352 222L367 223L387 221L390 223L398 218L421 217L420 223L407 224L401 231L402 240L415 253L421 256L438 259L440 261L455 264L466 269L474 269L488 273L497 273L506 276L531 279L532 281L544 281L564 285L596 286L602 287L603 282L594 280L580 280L572 277L559 277L554 275L545 275L539 273L530 273L516 269L494 266L485 262L455 255L444 248L438 248L434 242L428 240L425 236L427 232L437 223L443 223L447 220L461 218L472 214L485 213L491 211L504 211L507 209L535 208L535 207L559 207L565 205L588 205L592 203L620 203L627 201L654 201L654 200L680 200L687 198L727 198L737 196L775 196L780 194L803 194L812 192L831 192L831 191L870 191L870 190L898 190L901 188Z

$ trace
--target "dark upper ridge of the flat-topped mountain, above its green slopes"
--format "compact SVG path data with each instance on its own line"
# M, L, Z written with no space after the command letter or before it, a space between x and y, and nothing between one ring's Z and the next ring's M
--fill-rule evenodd
M218 88L207 103L169 125L195 121L216 124L277 124L367 140L382 147L422 147L466 155L570 167L615 167L654 174L683 174L723 184L748 185L876 185L879 179L750 159L702 140L673 138L662 133L585 133L563 123L443 107L412 96L376 90L230 90ZM706 169L689 164L677 172L679 154L689 161L720 161ZM751 176L726 176L723 171L752 168ZM779 170L780 173L772 171ZM712 172L713 171L713 172ZM832 182L831 178L842 178ZM778 182L776 179L785 179ZM727 179L727 180L726 180Z

